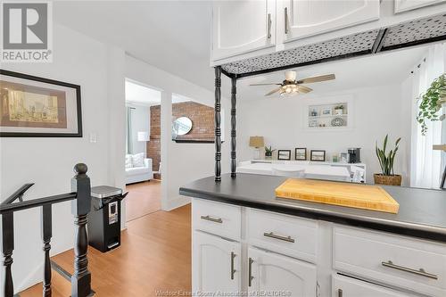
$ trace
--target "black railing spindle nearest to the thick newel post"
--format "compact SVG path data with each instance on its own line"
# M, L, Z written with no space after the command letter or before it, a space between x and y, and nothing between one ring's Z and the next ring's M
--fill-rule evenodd
M44 252L45 252L45 263L44 263L44 283L43 283L43 293L44 297L51 296L51 260L50 260L50 250L51 250L51 237L53 236L53 223L52 223L52 205L46 204L42 206L42 241L44 242Z

